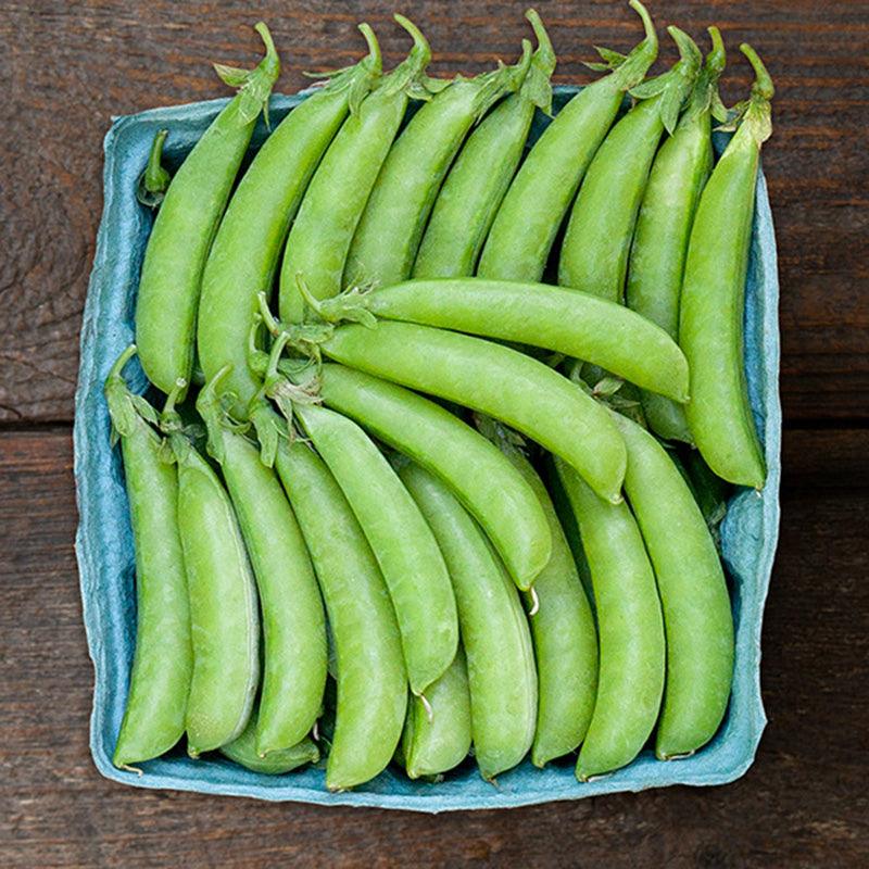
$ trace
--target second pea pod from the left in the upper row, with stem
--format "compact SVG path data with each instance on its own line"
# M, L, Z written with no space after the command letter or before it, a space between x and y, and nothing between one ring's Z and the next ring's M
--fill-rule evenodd
M232 414L248 418L262 383L248 369L248 341L257 312L257 292L272 279L302 196L351 106L380 75L380 49L367 24L360 26L369 53L341 70L297 105L253 159L226 210L202 275L197 345L205 378L231 365L227 391Z

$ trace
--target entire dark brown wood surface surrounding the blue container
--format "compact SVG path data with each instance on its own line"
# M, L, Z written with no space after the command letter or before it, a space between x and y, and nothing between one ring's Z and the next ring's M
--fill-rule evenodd
M628 48L622 2L539 3L557 80L593 42ZM511 58L522 2L405 3L441 73ZM147 792L104 781L87 747L92 671L73 552L78 329L102 207L110 116L224 92L209 62L259 56L265 18L301 71L390 62L391 4L0 2L0 865L835 867L869 865L869 3L652 0L659 25L776 78L765 168L781 269L782 534L764 631L769 727L741 781L500 813L425 817ZM671 55L671 49L666 48Z

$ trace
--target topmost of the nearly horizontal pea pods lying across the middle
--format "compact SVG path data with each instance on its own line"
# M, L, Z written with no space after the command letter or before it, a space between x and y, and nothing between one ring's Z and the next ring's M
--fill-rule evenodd
M676 401L688 399L688 362L676 341L590 293L487 278L411 280L375 290L365 304L387 319L554 350Z

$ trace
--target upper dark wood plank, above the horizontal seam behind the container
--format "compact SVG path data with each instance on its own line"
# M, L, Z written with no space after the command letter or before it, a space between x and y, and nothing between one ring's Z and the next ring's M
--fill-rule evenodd
M479 72L516 52L525 0L423 0L413 15L443 74ZM585 81L593 42L628 48L622 2L538 4L558 51L561 81ZM406 38L374 0L278 2L255 13L284 58L284 90L301 71L358 56L368 20L387 60ZM776 135L765 149L782 281L782 394L791 420L869 420L867 214L869 3L818 0L653 3L658 24L700 35L721 25L731 46L726 96L745 91L735 46L751 39L776 77ZM101 211L101 140L110 116L221 96L210 61L259 52L242 2L119 0L0 2L0 420L68 421L78 329ZM666 49L672 55L671 48Z

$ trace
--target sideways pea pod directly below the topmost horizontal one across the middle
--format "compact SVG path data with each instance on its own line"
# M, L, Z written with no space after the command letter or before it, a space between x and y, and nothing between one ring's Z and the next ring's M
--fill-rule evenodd
M576 383L515 350L411 323L341 326L323 352L344 365L500 419L561 455L620 500L625 444L606 411Z

